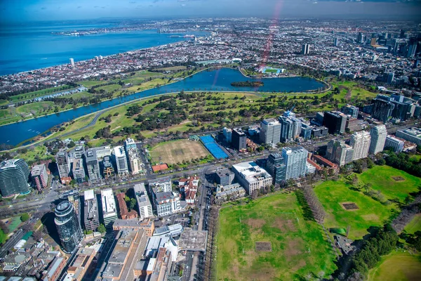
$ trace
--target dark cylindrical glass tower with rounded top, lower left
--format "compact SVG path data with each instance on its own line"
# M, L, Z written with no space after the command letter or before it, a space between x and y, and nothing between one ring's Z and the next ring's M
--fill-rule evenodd
M73 204L65 200L55 207L55 227L63 251L71 254L81 242L83 234Z

